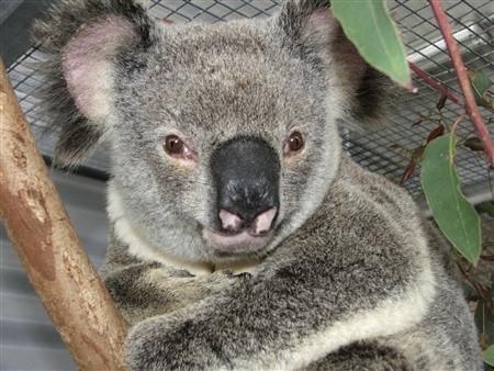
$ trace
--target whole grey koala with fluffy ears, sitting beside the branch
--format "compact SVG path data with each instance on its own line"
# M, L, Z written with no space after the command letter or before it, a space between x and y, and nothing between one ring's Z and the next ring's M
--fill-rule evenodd
M329 1L169 25L60 0L34 34L56 162L110 155L101 276L132 370L481 369L445 241L341 150L390 82Z

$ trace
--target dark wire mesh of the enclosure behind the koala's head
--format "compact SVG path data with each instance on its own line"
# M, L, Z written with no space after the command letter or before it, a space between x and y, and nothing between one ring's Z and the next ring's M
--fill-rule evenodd
M200 21L222 22L242 18L266 18L273 14L280 0L147 0L153 16L177 23ZM427 1L390 0L388 7L397 22L408 50L408 58L420 69L461 99L454 70L446 45L437 27ZM469 69L483 71L494 78L494 9L491 0L445 1L454 37ZM42 58L32 47L9 68L21 105L40 137L44 154L53 153L53 137L41 136L44 127L41 102L34 92L43 85L33 71L32 63ZM447 101L440 110L436 103L440 93L423 80L414 77L418 93L403 93L393 104L385 128L374 133L345 132L344 146L363 167L398 182L409 158L419 151L427 135L440 123L451 125L462 113L462 108ZM494 133L492 111L482 108L491 133ZM473 125L465 119L459 125L459 142L474 136ZM100 150L86 164L99 170L109 168L104 150ZM485 158L464 146L459 146L457 167L463 186L487 183L490 170ZM417 172L405 183L414 194L419 194Z

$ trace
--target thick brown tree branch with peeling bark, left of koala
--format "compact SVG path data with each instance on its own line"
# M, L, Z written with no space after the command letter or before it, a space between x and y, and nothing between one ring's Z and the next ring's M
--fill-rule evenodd
M82 249L0 58L0 217L81 370L125 370L126 326Z

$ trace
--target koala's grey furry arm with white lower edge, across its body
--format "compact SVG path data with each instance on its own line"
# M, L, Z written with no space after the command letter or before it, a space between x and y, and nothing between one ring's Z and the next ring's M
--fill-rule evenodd
M425 239L350 183L337 188L328 207L251 278L135 326L131 368L295 370L418 323L434 296ZM409 223L419 228L418 218Z

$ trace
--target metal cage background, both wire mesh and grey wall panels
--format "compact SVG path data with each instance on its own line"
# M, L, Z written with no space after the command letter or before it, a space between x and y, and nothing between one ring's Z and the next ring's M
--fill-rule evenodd
M43 135L44 121L36 89L43 80L33 70L33 61L43 58L27 37L29 25L54 0L0 0L0 49L21 105L37 137L42 153L53 155L54 138ZM147 0L151 15L173 22L223 22L239 18L265 18L274 13L281 0ZM3 7L5 4L7 7ZM492 0L442 0L463 60L468 68L494 78L494 3ZM426 0L388 1L405 40L408 58L461 98L456 74L445 43ZM438 111L440 93L414 77L415 94L404 92L396 99L385 128L374 133L344 132L346 150L362 166L398 182L409 161L439 120L452 124L462 108L447 101ZM481 113L491 134L494 115ZM468 119L458 127L460 142L475 135ZM91 175L109 170L104 149L85 164ZM457 166L464 190L473 190L476 201L492 198L485 156L459 146ZM418 171L417 171L418 172ZM54 171L58 190L92 262L98 267L104 256L106 222L104 184L87 177ZM417 198L422 193L415 173L405 187ZM471 192L470 192L471 193ZM472 194L472 193L471 193ZM75 369L58 334L44 313L27 282L3 228L0 225L0 369L68 370Z

